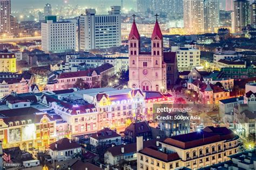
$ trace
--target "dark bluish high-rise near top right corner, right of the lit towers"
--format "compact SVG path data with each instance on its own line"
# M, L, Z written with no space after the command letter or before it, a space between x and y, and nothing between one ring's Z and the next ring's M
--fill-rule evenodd
M234 0L234 24L235 32L241 32L247 24L250 24L250 1Z

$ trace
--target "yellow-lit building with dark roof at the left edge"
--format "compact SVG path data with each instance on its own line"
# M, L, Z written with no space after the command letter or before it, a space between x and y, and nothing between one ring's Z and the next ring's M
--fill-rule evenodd
M14 53L0 52L0 72L16 72L16 57Z

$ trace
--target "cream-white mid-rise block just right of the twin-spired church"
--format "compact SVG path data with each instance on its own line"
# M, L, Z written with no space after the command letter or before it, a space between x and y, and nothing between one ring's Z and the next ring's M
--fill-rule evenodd
M200 66L200 50L194 47L172 47L172 52L177 52L178 69L192 70Z

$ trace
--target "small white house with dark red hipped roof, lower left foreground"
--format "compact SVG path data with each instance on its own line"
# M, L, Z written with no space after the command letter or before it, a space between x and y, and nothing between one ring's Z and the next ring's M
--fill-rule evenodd
M60 139L49 145L49 154L52 160L69 160L76 154L82 154L82 146L68 138Z

